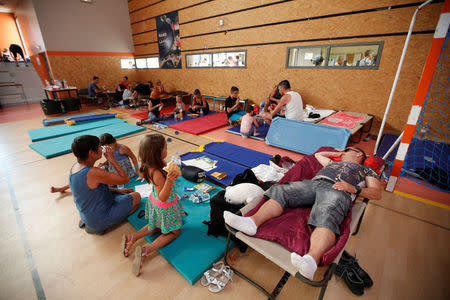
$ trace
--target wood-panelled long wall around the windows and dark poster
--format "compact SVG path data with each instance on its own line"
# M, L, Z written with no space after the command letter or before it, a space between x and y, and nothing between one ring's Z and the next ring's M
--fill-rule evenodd
M137 0L133 0L137 1ZM220 13L253 7L272 1L237 1L216 0L192 8L179 11L180 22L189 22L199 18L214 16ZM323 16L333 13L345 13L356 10L381 8L400 4L414 3L404 0L367 1L292 1L250 9L222 17L213 17L202 21L180 25L181 37L209 33L212 31L254 26L269 22L282 22L298 18ZM191 1L189 1L191 3ZM199 2L197 2L199 3ZM333 4L334 3L334 4ZM149 21L132 25L137 33L154 29L154 16L177 10L189 5L184 2L164 1L143 12L141 18L152 18ZM442 3L432 4L424 8L418 15L415 31L434 31ZM379 10L367 13L343 15L332 18L315 19L306 22L286 23L280 25L237 30L226 35L211 34L193 38L182 38L183 69L181 70L137 70L137 79L154 80L160 78L169 91L184 90L192 92L199 88L204 94L227 95L232 85L241 90L243 98L253 103L260 103L270 92L274 84L288 79L293 88L300 92L305 104L316 107L346 109L366 112L375 115L380 123L390 88L395 76L397 64L406 36L389 36L389 33L406 32L415 7ZM142 10L144 11L144 10ZM134 15L134 14L132 14ZM224 19L225 26L218 26L218 19ZM144 24L146 23L146 24ZM138 25L143 24L143 25ZM145 26L144 26L145 25ZM364 36L381 34L376 38L349 38L336 41L318 41L292 43L293 40L317 38L333 38L342 36ZM140 36L140 37L139 37ZM431 44L433 34L415 34L412 36L404 68L402 70L394 104L391 107L387 128L401 131L406 122L412 100L417 89L423 65ZM156 41L156 31L134 36L135 43ZM288 41L289 43L277 44ZM378 70L351 69L286 69L286 52L288 46L343 44L369 41L384 41ZM244 44L275 43L260 46L242 46ZM186 69L185 54L189 50L203 49L208 45L213 51L220 49L247 50L247 68L245 69ZM227 48L228 47L228 48ZM202 52L202 50L195 50ZM211 51L211 50L209 50ZM158 53L157 44L135 46L136 55Z

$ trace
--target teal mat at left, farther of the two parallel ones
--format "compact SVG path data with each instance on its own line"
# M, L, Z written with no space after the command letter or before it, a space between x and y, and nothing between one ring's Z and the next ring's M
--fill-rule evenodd
M80 124L74 124L69 126L67 124L55 125L51 127L37 128L28 130L28 135L32 142L54 138L62 135L76 133L88 129L109 126L117 123L123 123L124 120L120 119L106 119L92 122L84 122Z

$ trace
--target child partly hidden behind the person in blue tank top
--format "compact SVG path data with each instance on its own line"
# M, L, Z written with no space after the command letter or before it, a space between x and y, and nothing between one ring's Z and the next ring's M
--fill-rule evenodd
M136 156L130 148L125 145L118 144L116 139L109 133L104 133L100 136L100 145L109 146L113 149L114 158L122 169L124 169L129 178L136 176L136 172L139 170L139 165ZM131 165L130 159L133 161L134 169ZM99 167L108 172L117 173L116 169L108 161L100 163Z

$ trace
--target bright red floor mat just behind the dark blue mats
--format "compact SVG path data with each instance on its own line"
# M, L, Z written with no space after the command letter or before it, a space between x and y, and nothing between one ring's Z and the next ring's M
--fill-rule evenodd
M183 132L199 135L204 132L225 126L227 124L227 115L225 113L216 113L201 118L170 125L170 128Z

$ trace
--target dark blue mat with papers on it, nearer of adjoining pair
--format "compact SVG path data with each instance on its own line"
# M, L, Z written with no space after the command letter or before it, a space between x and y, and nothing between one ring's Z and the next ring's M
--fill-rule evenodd
M205 172L206 176L210 178L211 180L215 182L219 182L223 184L224 186L228 186L234 179L234 177L242 172L245 171L248 167L237 164L235 162L229 161L227 159L224 159L222 157L218 157L216 155L213 155L211 153L207 152L188 152L185 154L180 155L180 158L182 161L193 159L193 158L199 158L202 156L207 156L213 160L217 160L216 168L212 169L211 171ZM183 163L184 165L184 163ZM222 179L217 179L211 174L214 172L225 172L227 174L226 177Z

